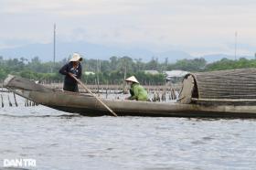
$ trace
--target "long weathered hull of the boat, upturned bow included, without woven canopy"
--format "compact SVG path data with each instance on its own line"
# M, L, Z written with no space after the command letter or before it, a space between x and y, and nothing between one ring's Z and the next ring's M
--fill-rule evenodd
M64 112L86 116L112 115L95 97L54 90L34 81L9 76L4 85L16 94ZM256 118L256 100L189 99L190 103L101 99L119 116Z

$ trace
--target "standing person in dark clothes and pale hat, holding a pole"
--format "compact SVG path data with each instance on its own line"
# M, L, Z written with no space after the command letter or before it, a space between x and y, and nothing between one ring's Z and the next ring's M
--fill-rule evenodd
M59 73L65 75L63 90L68 90L72 92L79 92L78 82L74 80L69 74L72 74L77 79L81 77L81 64L82 60L80 54L73 53L72 58L69 59L69 63L65 64Z

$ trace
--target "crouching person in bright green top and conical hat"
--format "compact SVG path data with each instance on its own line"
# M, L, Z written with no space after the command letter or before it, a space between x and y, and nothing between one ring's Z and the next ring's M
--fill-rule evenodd
M134 76L127 78L125 81L131 85L131 96L126 98L127 100L147 101L147 91Z

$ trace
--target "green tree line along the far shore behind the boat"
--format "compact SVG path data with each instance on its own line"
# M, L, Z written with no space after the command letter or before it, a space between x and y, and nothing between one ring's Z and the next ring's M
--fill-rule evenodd
M7 58L0 56L0 80L4 80L8 74L18 75L30 80L42 80L47 82L62 81L63 76L59 69L69 61L64 58L58 62L42 62L38 57ZM165 83L164 70L182 69L191 72L211 71L222 69L256 68L256 59L240 58L231 60L222 58L213 63L207 63L204 58L180 59L176 63L169 63L167 58L159 62L158 58L152 58L144 62L141 58L111 57L108 60L87 59L82 62L83 74L81 80L89 84L95 84L97 80L101 84L120 84L124 77L134 75L142 84L160 85ZM159 74L148 74L144 70L157 70ZM85 74L91 71L95 74Z

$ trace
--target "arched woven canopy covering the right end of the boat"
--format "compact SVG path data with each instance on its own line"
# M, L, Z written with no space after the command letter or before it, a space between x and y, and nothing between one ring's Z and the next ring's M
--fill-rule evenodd
M229 69L189 73L183 80L179 99L256 99L256 69Z

